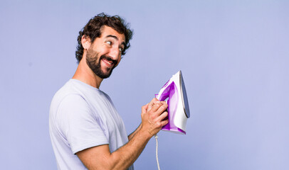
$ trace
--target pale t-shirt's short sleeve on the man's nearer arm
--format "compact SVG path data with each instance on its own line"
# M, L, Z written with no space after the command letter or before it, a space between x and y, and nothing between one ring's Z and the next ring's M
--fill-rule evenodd
M108 144L100 120L83 97L70 94L58 107L57 123L73 154L90 147Z

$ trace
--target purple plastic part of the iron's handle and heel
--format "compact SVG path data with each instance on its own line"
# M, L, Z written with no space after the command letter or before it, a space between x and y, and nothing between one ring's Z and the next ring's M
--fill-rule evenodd
M168 81L169 82L169 81ZM162 130L172 130L176 132L182 132L186 134L184 130L181 130L180 128L177 128L176 125L174 125L174 115L176 114L177 107L178 107L178 101L179 101L179 94L177 93L177 86L172 82L168 85L168 82L164 84L162 88L165 88L162 94L156 94L156 97L159 97L159 101L165 101L167 98L167 112L168 112L168 119L169 123L167 125L164 125L162 127ZM167 86L168 85L168 86Z

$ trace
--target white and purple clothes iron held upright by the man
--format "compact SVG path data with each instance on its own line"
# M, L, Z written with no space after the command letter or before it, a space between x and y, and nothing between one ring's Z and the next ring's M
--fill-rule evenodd
M186 120L190 113L182 72L174 74L155 96L159 101L167 100L169 123L162 130L186 134Z

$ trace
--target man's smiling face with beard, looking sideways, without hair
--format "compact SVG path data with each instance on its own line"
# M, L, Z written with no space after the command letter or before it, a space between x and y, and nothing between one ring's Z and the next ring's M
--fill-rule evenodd
M95 38L88 48L86 63L101 79L110 77L112 70L120 63L125 48L125 35L108 26L101 28L100 38Z

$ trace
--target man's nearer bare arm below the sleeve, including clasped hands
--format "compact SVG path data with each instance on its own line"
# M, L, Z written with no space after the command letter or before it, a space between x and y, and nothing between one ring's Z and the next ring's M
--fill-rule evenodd
M153 101L153 102L152 102ZM77 152L81 162L88 169L127 169L140 156L149 139L157 134L168 123L167 103L157 101L155 98L142 106L142 123L130 135L130 141L115 152L110 153L108 145L91 147Z

